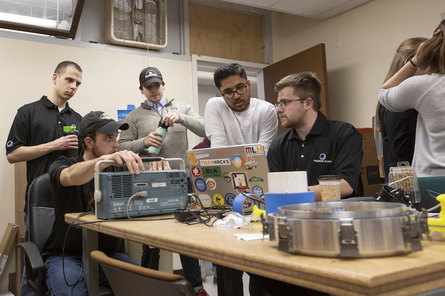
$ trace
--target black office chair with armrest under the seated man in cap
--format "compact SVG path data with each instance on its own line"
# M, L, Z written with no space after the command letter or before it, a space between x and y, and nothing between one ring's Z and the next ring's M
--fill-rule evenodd
M45 285L45 262L42 250L54 224L54 191L49 174L37 177L28 190L29 241L19 246L25 253L28 288L39 296L49 295ZM112 296L107 287L100 287L100 296Z

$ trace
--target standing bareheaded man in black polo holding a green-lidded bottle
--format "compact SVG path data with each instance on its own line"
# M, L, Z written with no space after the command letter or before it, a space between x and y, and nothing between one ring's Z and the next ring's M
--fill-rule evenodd
M68 100L82 82L82 69L76 63L65 61L57 65L52 75L51 93L40 101L25 105L17 111L6 142L9 163L26 161L25 241L28 241L28 188L48 172L51 163L68 150L77 154L76 135L63 137L64 126L79 126L82 116L72 110ZM26 286L23 272L21 295L34 295Z

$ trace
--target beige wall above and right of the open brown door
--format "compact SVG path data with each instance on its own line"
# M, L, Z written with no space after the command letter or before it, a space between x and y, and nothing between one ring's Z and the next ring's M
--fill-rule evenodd
M371 127L397 47L407 38L430 37L443 12L444 0L374 0L326 21L273 13L274 61L325 43L331 119Z

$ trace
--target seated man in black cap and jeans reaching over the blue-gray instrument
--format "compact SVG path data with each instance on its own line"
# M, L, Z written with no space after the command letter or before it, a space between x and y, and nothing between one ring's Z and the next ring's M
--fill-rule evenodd
M49 168L55 194L55 220L42 257L46 268L45 283L51 295L88 295L84 277L79 277L82 272L82 229L71 228L67 235L69 225L64 221L64 216L66 213L94 209L95 164L99 160L114 160L119 165L127 165L116 167L103 164L100 168L107 172L128 168L131 174L137 175L139 170L144 170L142 160L134 152L116 151L119 147L118 129L126 130L128 124L116 122L102 111L88 113L79 127L83 153L72 158L60 156ZM114 259L135 264L127 255L117 252L118 241L116 237L99 233L99 250ZM103 271L99 271L99 283L104 286L108 284Z

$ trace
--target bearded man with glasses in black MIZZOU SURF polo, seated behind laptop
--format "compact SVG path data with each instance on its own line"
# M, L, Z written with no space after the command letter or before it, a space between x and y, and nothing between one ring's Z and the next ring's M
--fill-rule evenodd
M275 84L281 124L291 129L273 140L267 154L270 172L307 171L309 190L321 200L318 177L339 175L341 197L362 196L361 135L349 123L326 119L321 83L315 74L291 74Z

